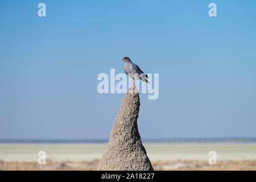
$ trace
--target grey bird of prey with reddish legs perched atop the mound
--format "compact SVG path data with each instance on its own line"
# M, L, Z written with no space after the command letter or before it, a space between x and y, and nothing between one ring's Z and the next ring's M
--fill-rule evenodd
M134 88L136 87L136 80L141 79L144 82L148 82L148 76L138 67L137 64L133 63L131 59L127 56L123 57L122 60L125 62L125 73L129 75L132 79L131 88L133 88L133 81L134 81Z

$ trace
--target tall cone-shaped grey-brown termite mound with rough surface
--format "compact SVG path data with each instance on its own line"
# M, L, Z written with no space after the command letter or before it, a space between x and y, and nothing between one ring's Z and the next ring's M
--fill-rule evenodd
M115 117L109 143L98 170L154 170L138 131L139 106L137 89L129 89Z

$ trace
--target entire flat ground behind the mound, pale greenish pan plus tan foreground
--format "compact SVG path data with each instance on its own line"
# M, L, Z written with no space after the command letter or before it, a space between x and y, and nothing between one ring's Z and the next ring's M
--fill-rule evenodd
M155 170L255 170L256 143L145 143ZM101 144L0 144L0 170L95 170ZM38 151L46 151L46 165ZM208 163L209 151L217 164Z

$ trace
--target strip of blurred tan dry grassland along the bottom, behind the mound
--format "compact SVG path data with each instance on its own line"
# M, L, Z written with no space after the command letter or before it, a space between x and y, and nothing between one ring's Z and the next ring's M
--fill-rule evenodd
M36 162L0 161L0 170L96 170L99 160L73 162L47 160L46 165ZM256 160L221 160L216 165L200 160L152 161L155 170L256 170Z

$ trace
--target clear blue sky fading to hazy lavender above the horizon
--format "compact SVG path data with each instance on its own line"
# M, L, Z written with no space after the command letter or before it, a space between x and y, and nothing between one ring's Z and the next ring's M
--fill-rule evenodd
M142 138L256 137L255 22L254 0L1 1L0 138L108 138L123 94L97 75L122 56L159 73Z

